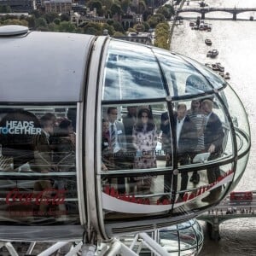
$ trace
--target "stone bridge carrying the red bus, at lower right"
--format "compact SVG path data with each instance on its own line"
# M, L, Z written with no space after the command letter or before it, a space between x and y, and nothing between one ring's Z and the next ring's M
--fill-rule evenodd
M218 206L204 212L197 219L207 222L210 237L219 240L219 224L232 218L256 218L256 191L253 191L253 200L230 201L230 196L221 201Z

